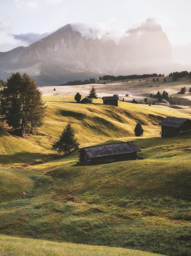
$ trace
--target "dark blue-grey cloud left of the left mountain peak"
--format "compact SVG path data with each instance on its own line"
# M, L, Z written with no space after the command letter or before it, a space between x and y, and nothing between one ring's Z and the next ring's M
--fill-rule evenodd
M43 34L38 34L38 33L26 33L26 34L10 34L11 36L14 37L16 40L20 40L23 42L27 42L29 44L35 43L38 40L41 40L44 37L47 37L53 32L50 33L43 33Z

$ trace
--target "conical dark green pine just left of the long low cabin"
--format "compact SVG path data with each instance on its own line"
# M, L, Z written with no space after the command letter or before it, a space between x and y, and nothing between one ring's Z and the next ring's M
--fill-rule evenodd
M52 148L57 150L58 153L70 153L79 148L79 143L75 138L75 132L70 123L67 124L59 140L52 145Z

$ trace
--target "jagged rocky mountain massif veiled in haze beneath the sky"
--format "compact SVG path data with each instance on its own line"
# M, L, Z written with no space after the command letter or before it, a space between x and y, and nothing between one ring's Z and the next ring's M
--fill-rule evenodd
M100 74L167 75L183 69L175 64L167 35L153 19L124 31L121 37L107 33L106 27L100 30L96 25L67 24L27 47L0 52L0 79L16 71L27 72L39 86Z

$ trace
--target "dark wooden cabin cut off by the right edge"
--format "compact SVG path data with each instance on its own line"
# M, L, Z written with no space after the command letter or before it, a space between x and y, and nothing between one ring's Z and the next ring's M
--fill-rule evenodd
M191 131L191 120L167 116L159 123L161 125L161 137L174 137L182 132Z

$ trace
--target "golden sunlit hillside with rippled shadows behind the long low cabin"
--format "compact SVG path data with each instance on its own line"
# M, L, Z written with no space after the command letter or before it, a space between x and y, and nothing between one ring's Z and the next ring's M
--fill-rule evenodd
M77 104L74 97L44 97L48 106L44 125L27 134L26 139L13 136L11 130L0 127L0 166L26 166L47 161L56 152L51 144L58 139L67 122L71 122L81 146L102 143L110 139L134 138L136 122L144 128L143 137L160 137L157 125L164 117L190 117L190 110L169 109L162 106L119 102L119 107L95 104Z

